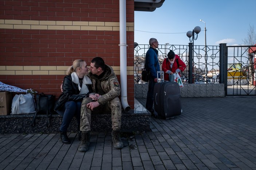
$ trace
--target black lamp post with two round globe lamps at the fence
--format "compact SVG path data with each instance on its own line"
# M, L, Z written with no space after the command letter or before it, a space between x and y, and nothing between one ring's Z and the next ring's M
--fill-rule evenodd
M189 84L193 83L193 72L194 72L194 66L193 66L193 54L194 54L194 40L197 39L198 33L200 33L201 28L200 26L196 26L193 31L188 31L187 36L189 37L189 41L192 42L192 50L190 49L191 43L189 43Z

